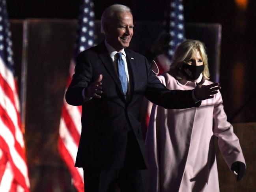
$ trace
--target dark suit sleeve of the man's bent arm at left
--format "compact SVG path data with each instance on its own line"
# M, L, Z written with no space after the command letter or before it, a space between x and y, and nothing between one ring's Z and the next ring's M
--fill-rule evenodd
M71 84L65 94L65 99L68 104L82 105L83 97L82 90L88 87L92 79L92 66L88 57L84 53L77 56L75 73L72 76Z

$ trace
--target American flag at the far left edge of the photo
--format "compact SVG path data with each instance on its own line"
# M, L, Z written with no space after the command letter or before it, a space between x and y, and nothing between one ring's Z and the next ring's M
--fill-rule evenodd
M28 192L30 183L7 18L6 0L0 0L0 191Z

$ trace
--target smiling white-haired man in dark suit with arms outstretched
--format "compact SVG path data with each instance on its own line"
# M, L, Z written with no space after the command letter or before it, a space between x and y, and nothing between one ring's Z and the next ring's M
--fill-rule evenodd
M112 192L116 185L121 192L142 192L140 170L146 169L139 123L142 98L165 108L190 108L211 98L220 87L199 84L193 91L164 87L147 59L127 48L133 36L129 7L108 7L101 30L105 41L78 55L65 95L67 103L82 105L75 166L84 169L86 192Z

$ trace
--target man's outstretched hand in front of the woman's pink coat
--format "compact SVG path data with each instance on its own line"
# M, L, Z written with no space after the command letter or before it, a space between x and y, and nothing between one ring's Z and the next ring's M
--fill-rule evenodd
M194 90L194 95L196 99L200 101L213 98L213 95L218 93L218 90L220 89L219 83L203 85L205 80L206 78L203 76L201 82L196 85L196 88Z

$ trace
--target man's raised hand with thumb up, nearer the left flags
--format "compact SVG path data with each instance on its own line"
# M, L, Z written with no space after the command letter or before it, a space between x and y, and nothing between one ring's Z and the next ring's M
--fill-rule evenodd
M86 97L101 98L102 86L101 86L102 75L99 75L95 82L92 82L87 89L84 90Z

